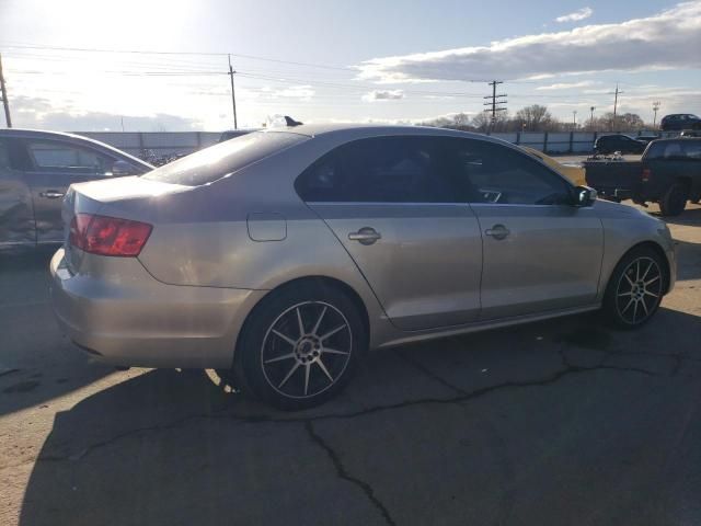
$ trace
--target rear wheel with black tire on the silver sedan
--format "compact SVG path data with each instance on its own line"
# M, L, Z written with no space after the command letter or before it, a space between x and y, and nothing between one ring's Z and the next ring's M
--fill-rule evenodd
M341 392L367 345L358 308L345 293L302 282L271 293L256 306L233 368L243 377L244 391L286 411L308 409Z

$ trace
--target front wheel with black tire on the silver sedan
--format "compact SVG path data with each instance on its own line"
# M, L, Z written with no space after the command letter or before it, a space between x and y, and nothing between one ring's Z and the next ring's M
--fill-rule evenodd
M667 265L655 250L631 250L609 279L601 308L605 320L621 329L644 325L659 308L667 283Z

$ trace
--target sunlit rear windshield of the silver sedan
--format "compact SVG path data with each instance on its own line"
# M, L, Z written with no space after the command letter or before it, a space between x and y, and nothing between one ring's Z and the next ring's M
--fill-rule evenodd
M142 175L162 183L199 186L306 140L299 134L256 132L205 148Z

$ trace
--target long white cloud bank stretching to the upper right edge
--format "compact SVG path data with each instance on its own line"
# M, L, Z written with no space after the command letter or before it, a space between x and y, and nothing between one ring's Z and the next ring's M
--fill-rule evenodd
M359 78L380 82L519 79L606 70L701 68L701 2L619 24L527 35L489 46L375 58Z

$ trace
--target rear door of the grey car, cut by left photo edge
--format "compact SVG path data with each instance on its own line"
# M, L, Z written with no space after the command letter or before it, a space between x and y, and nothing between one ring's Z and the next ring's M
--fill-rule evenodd
M22 145L0 138L0 248L36 242L32 192L22 171Z

